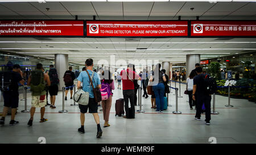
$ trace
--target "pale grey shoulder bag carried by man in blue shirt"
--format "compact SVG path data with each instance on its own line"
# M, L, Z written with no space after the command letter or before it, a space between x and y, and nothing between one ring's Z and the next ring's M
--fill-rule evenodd
M82 89L79 89L76 91L76 93L73 96L73 100L75 100L75 102L82 104L84 106L87 106L89 103L89 93L85 92Z

